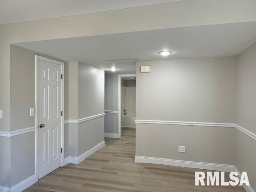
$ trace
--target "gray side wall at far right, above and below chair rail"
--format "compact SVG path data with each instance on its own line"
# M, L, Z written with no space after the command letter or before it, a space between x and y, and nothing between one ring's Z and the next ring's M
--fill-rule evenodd
M256 44L236 56L236 124L256 134ZM247 171L250 184L256 189L256 141L236 130L238 170Z

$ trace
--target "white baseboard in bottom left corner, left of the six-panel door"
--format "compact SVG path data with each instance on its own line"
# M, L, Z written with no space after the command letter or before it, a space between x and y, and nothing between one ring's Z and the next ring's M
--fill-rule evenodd
M26 178L22 182L19 182L18 184L14 185L13 187L2 187L0 186L0 192L21 192L24 189L28 188L32 184L37 182L36 175L32 175L29 178Z

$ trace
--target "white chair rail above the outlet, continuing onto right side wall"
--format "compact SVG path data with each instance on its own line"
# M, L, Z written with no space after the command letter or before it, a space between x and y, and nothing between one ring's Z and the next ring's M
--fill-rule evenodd
M162 120L135 120L136 124L164 124L164 125L191 125L210 127L232 127L243 132L256 140L256 134L234 123L208 123L208 122L188 122L188 121L162 121Z

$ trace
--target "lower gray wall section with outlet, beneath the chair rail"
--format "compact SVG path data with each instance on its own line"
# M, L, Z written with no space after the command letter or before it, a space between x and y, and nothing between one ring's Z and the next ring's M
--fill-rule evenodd
M136 155L234 164L234 128L136 124ZM186 153L178 152L186 146Z

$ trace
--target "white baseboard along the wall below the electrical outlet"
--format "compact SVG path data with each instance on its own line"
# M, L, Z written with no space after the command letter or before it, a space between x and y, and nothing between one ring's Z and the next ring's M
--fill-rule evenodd
M136 163L152 163L152 164L160 164L160 165L170 165L170 166L215 170L215 171L225 171L225 172L231 172L234 170L233 165L227 165L227 164L183 161L183 160L144 157L144 156L135 156L135 162Z

